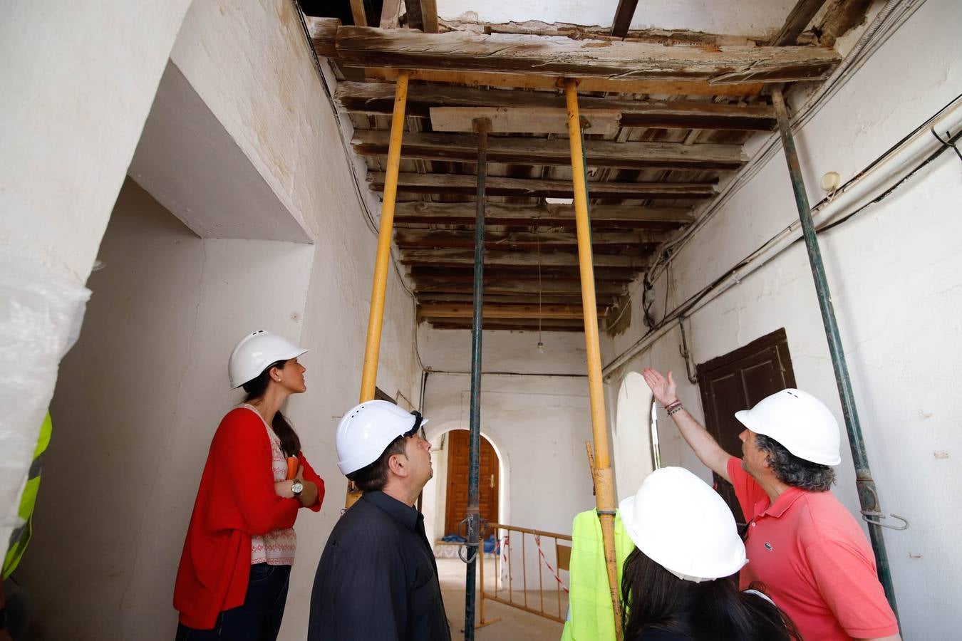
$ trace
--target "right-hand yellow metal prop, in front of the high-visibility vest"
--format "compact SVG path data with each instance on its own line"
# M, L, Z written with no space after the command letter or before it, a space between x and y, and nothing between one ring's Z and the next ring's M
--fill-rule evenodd
M595 267L592 260L591 221L588 218L588 182L581 144L577 82L565 81L568 101L568 137L571 145L571 176L574 180L574 215L578 233L578 264L581 267L581 305L584 308L585 343L588 348L588 393L592 408L592 433L595 441L595 508L601 520L601 538L608 569L611 603L615 610L615 631L620 640L621 600L618 561L615 557L615 483L608 451L608 426L604 413L601 379L601 348L598 344L598 318L595 303Z

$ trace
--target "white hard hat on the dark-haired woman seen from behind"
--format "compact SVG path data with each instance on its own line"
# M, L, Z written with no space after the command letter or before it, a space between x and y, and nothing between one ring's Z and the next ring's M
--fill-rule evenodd
M655 470L619 509L638 549L678 579L721 579L748 562L728 505L684 468Z

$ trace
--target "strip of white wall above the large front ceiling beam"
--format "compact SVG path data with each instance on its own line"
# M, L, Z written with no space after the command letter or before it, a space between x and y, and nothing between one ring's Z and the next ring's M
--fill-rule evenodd
M689 29L715 34L761 37L781 28L795 6L794 0L744 2L742 0L686 0L645 2L638 5L632 29ZM438 17L466 22L567 22L611 27L618 0L536 0L535 2L478 2L438 0Z

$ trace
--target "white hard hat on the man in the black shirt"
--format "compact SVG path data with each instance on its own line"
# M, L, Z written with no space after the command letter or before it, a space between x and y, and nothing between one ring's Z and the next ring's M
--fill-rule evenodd
M392 440L427 424L418 412L388 401L367 401L344 414L338 424L335 445L338 467L344 476L357 472L384 454Z

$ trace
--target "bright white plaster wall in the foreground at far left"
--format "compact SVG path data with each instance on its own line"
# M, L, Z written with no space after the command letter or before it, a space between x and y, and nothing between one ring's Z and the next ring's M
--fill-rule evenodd
M0 464L0 540L16 523L57 365L83 319L83 285L189 4L72 3L56 11L22 0L3 5L0 271L25 277L5 291L11 315L0 314L0 325L10 333L15 319L35 314L26 324L38 343L5 350L0 368L0 386L14 398L29 395L0 425L7 456ZM36 377L20 388L14 372L24 361Z

